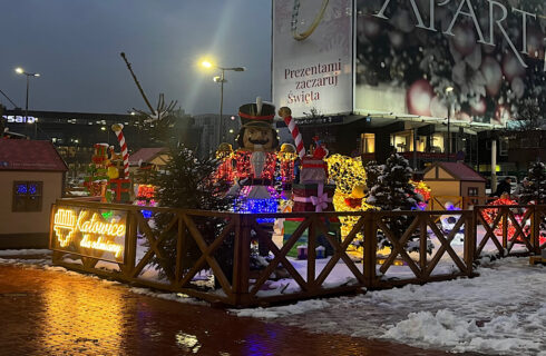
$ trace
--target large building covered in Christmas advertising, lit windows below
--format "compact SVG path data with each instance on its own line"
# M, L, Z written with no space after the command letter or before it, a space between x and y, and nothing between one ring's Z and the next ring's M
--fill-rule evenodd
M499 138L488 132L518 118L526 98L546 111L544 6L495 6L507 17L489 28L495 11L486 0L298 9L274 0L273 102L292 109L306 145L318 135L331 151L364 159L397 151L418 169L437 160L490 169L485 147ZM503 169L517 168L507 165L505 139L497 144Z

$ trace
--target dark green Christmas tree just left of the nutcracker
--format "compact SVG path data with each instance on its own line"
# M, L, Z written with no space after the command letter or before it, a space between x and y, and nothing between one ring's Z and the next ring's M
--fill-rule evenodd
M226 211L233 204L232 199L225 197L227 187L223 182L215 181L213 174L217 162L214 159L201 160L194 152L183 145L170 144L168 162L164 170L155 172L152 182L158 187L156 198L160 206ZM155 216L157 231L163 231L170 222L173 215L162 212ZM192 217L193 222L199 230L207 244L214 241L224 226L225 219L214 217ZM176 264L176 231L172 228L163 245L166 251L166 265L174 268ZM188 231L184 234L182 268L188 270L193 267L202 253ZM214 254L222 270L231 280L233 271L233 235L225 238L223 245ZM157 257L154 265L159 265ZM206 269L206 268L204 268Z

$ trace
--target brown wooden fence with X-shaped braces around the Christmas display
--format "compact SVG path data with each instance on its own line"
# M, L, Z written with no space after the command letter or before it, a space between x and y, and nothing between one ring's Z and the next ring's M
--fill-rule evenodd
M59 207L125 211L127 234L123 263L61 250L51 234L56 265L233 306L472 276L472 261L488 240L499 251L507 247L509 253L516 243L539 251L537 222L530 235L517 222L521 241L495 235L503 221L517 221L511 207L495 207L499 212L490 224L480 211L491 207L474 211L234 214L60 199L52 207L51 221ZM358 219L350 233L341 236L339 219L347 216ZM524 219L538 221L544 216L543 207L527 207ZM272 220L277 222L276 231ZM486 228L479 244L478 222ZM260 250L271 251L269 260L257 256L256 241ZM380 243L390 248L378 249ZM330 249L328 258L321 258L319 246ZM295 258L300 249L306 249L306 259Z

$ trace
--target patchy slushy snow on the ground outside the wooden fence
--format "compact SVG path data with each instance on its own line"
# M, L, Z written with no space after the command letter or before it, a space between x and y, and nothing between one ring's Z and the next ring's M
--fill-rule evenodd
M231 312L417 347L546 356L546 268L506 258L478 273L471 279Z

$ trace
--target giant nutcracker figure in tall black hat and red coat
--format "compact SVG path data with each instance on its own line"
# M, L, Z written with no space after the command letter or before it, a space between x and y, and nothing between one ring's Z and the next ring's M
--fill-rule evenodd
M276 212L279 195L274 188L276 149L279 138L273 128L275 107L262 102L240 107L241 130L235 151L235 180L241 186L236 210L244 212ZM273 219L259 221L262 228L272 231ZM261 256L269 254L267 244L259 241Z

